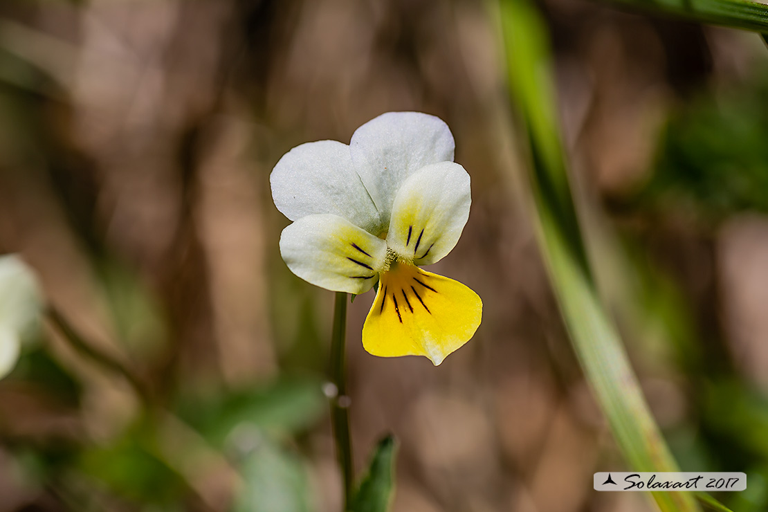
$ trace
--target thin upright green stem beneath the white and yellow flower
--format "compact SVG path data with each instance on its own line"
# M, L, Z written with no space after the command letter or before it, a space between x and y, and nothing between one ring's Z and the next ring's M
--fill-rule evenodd
M352 497L354 469L352 465L352 438L349 435L349 396L346 394L346 293L336 292L333 307L333 334L331 335L330 377L336 386L336 395L331 401L331 425L336 439L336 454L339 457L344 480L344 510Z

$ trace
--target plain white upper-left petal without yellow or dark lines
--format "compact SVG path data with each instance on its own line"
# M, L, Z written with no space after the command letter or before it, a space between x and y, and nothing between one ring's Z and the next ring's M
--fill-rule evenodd
M379 212L355 171L346 144L319 140L294 147L277 162L270 183L277 210L290 220L333 213L379 233Z

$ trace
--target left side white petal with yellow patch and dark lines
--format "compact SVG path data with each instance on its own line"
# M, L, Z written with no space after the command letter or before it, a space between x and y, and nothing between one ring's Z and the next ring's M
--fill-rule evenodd
M336 292L367 292L386 257L386 243L336 215L310 215L286 227L280 254L305 281Z

